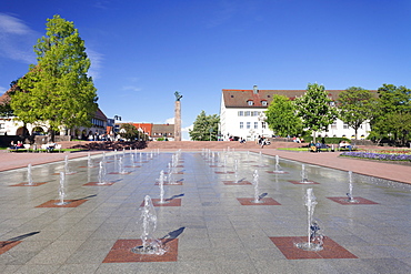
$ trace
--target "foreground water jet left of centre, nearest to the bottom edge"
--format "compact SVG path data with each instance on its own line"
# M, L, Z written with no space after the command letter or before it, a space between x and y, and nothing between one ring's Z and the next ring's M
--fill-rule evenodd
M144 206L140 209L140 220L138 223L141 225L141 242L142 245L131 248L132 252L138 254L163 255L167 250L162 243L153 237L157 229L157 214L152 204L151 197L146 195Z

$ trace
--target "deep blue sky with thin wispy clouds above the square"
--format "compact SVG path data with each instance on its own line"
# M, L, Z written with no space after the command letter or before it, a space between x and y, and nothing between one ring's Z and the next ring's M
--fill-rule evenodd
M222 89L411 88L410 0L13 0L0 8L0 94L36 63L48 18L86 41L109 118L182 128ZM188 134L183 135L184 139Z

